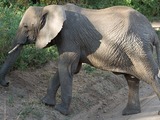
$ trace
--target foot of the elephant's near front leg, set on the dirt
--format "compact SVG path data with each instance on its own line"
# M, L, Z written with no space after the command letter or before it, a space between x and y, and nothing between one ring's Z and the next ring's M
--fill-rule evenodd
M62 105L62 104L56 105L55 110L59 111L63 115L69 114L69 110L67 108L65 108L64 105Z

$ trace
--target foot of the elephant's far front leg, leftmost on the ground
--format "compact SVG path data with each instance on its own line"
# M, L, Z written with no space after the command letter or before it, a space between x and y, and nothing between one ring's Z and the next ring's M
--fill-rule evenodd
M55 98L50 97L48 95L46 95L45 97L42 98L42 103L44 103L45 105L50 105L50 106L55 106L55 104L56 104Z

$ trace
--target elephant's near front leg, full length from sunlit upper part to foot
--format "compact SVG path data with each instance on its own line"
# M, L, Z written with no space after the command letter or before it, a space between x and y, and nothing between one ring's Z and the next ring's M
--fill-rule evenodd
M72 80L79 63L79 56L74 53L64 54L60 57L58 72L61 86L61 104L55 109L64 115L69 114L69 107L72 99Z

